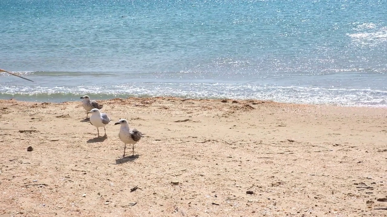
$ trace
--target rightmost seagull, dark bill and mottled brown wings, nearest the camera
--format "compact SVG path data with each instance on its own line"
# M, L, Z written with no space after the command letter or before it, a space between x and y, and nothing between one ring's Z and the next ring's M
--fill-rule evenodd
M132 157L134 157L134 144L136 144L142 137L142 133L135 128L130 128L128 121L126 119L120 119L114 125L120 124L120 133L118 133L118 137L120 137L121 141L125 143L125 147L123 148L123 158L125 158L125 150L126 144L132 144Z

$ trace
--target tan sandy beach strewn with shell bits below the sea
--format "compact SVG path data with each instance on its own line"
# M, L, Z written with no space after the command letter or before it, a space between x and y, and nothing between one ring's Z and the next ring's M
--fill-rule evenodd
M387 215L385 108L226 101L101 100L94 139L81 102L0 100L0 216Z

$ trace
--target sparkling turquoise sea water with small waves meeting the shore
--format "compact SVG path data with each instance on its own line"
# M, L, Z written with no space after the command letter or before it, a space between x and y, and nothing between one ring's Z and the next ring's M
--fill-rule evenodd
M387 1L2 0L0 98L387 106Z

